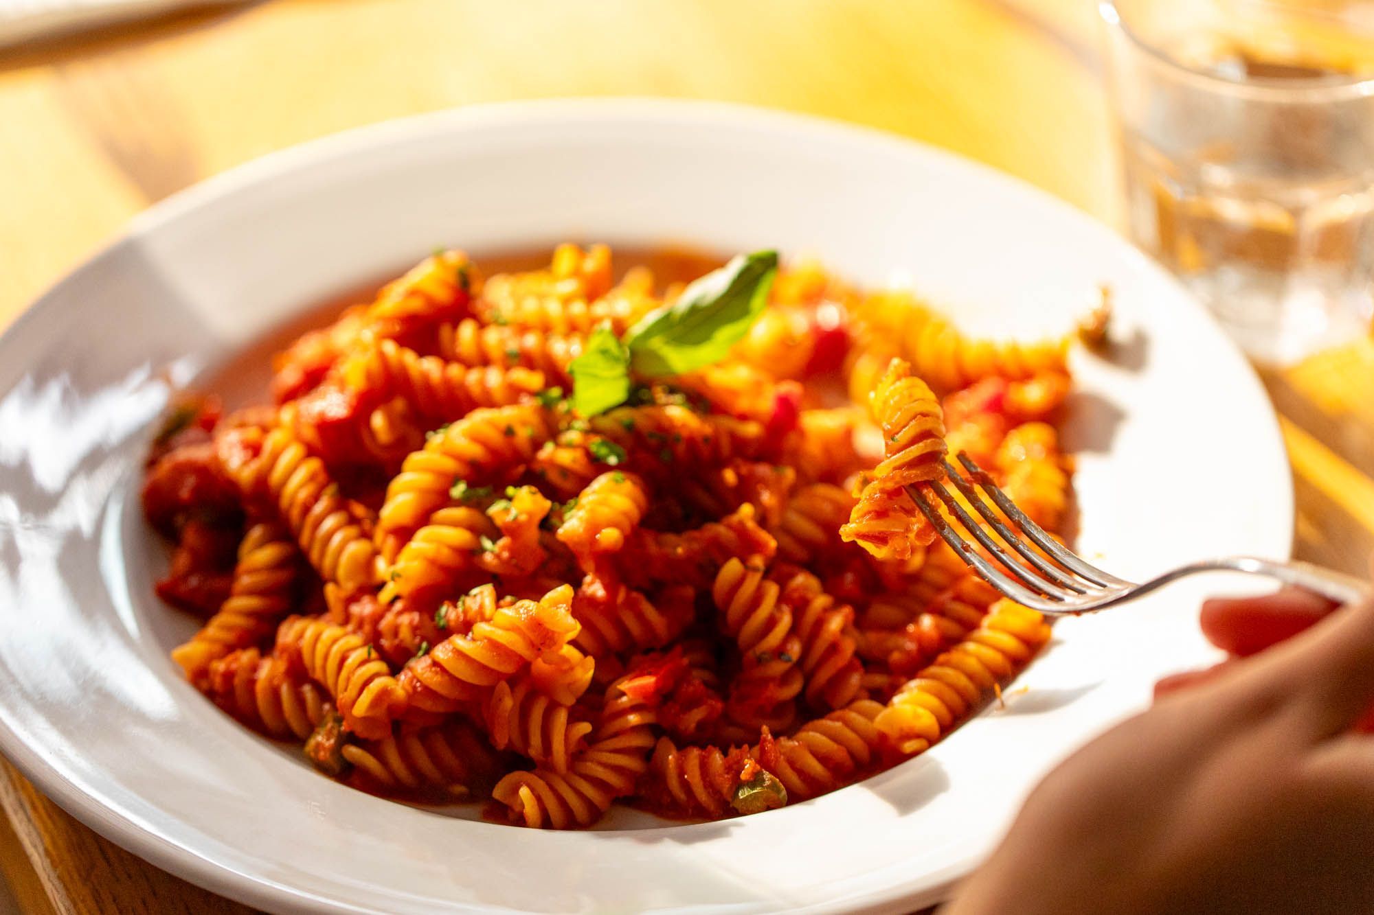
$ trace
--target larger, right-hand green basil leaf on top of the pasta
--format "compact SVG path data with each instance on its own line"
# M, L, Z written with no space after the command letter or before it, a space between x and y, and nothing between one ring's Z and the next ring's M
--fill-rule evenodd
M635 372L660 378L719 363L763 313L776 273L778 251L754 251L692 282L625 337Z

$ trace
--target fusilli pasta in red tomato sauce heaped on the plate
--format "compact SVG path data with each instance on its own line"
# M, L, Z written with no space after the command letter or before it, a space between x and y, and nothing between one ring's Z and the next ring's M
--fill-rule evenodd
M631 328L719 276L692 279L441 251L300 337L269 403L181 401L143 504L174 543L158 594L203 618L187 679L353 787L529 827L754 813L945 738L1048 629L907 488L965 452L1062 534L1066 343L974 341L805 262L716 361L649 372ZM584 415L606 331L620 403Z

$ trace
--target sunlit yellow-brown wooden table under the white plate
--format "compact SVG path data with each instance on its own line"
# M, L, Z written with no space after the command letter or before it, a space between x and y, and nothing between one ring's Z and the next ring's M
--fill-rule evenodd
M0 52L0 324L150 203L301 140L455 104L749 102L948 147L1120 221L1090 0L278 0ZM1374 343L1267 376L1297 554L1374 548ZM1264 499L1267 493L1254 493ZM106 842L0 762L26 912L242 907Z

